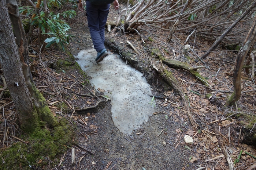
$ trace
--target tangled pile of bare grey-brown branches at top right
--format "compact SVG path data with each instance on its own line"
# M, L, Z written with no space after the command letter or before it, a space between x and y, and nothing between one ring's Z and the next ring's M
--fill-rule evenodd
M196 29L197 35L216 40L252 3L253 0L141 0L130 7L128 1L117 23L124 20L123 31L133 31L141 25L163 31L193 32ZM249 12L223 41L240 46L254 15L255 11Z

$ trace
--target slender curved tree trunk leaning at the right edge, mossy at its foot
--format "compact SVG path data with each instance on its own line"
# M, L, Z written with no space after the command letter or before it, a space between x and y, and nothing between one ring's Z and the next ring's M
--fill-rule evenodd
M233 75L234 92L227 99L226 105L234 104L241 95L241 72L244 66L245 57L248 54L248 51L250 50L251 46L255 42L255 38L256 38L256 16L254 18L253 25L247 34L244 44L237 55L237 61L234 69L234 75Z

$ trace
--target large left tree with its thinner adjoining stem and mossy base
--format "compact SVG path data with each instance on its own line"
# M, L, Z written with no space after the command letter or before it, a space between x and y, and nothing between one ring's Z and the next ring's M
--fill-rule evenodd
M16 109L19 112L21 127L29 132L38 127L39 121L46 121L54 126L57 120L52 115L44 97L36 89L27 64L28 46L25 38L18 5L15 0L1 1L0 7L0 62ZM8 15L8 9L9 15ZM10 20L11 18L11 20ZM12 32L13 23L14 34Z

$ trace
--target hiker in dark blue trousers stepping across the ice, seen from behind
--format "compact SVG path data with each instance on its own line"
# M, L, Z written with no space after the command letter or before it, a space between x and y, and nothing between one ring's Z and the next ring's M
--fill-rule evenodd
M92 37L94 49L97 51L96 63L101 62L108 55L104 46L105 24L107 22L110 4L114 2L115 10L118 9L118 0L86 0L86 16ZM78 9L82 10L81 0L77 1Z

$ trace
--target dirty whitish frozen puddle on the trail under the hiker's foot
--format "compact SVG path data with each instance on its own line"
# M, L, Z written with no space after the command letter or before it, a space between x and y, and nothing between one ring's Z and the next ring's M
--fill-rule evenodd
M148 121L154 111L153 105L149 104L152 99L148 96L150 86L142 73L126 65L120 55L108 55L98 64L96 55L94 49L82 50L77 55L77 63L92 77L90 82L95 88L105 90L104 94L111 98L115 126L121 132L131 134Z

